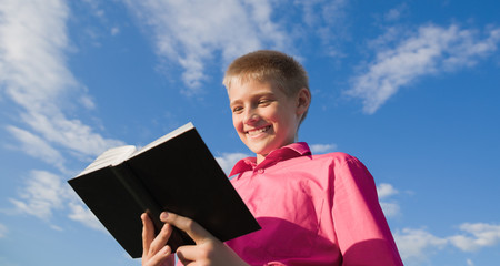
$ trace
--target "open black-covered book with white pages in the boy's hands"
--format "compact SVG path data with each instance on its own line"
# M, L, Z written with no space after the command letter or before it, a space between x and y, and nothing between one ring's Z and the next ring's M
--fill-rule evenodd
M162 211L190 217L220 241L260 229L191 123L147 146L108 150L68 183L132 258L142 256L142 222L157 233ZM193 244L176 229L173 250Z

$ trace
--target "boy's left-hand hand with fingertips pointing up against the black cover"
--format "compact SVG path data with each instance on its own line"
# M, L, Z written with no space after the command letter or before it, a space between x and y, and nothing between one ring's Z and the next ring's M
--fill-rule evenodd
M141 215L142 219L142 266L173 266L174 256L172 249L167 246L167 241L172 234L172 226L164 224L157 237L154 226L148 214Z

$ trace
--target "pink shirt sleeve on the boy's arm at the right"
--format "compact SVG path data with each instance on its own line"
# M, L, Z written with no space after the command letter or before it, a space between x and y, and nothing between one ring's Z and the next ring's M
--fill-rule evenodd
M367 167L351 157L333 174L332 215L342 265L403 265Z

